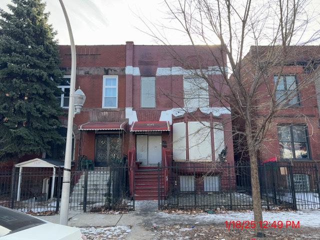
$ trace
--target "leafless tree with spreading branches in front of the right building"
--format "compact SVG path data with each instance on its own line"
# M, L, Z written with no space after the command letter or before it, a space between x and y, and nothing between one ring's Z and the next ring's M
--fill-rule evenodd
M308 3L306 0L165 0L168 19L174 23L173 26L142 19L147 28L144 32L167 45L171 56L191 70L194 78L205 81L206 84L192 81L194 89L207 91L209 98L218 99L232 110L232 117L228 120L238 122L233 134L242 146L239 147L241 152L247 152L250 159L256 222L262 221L258 153L263 142L268 140L266 133L276 113L301 101L299 91L307 88L317 76L314 59L319 57L319 50L317 47L298 46L318 39L318 32L310 32L308 28L315 17L305 8ZM163 33L165 30L188 37L196 55L192 62L177 54ZM205 51L210 53L211 62L218 63L217 70L222 78L216 78L208 71L212 69L203 62L203 51L198 50L198 44L207 46ZM213 51L212 44L220 45L220 51ZM303 67L311 69L309 74L303 75L298 85L290 81L279 91L279 85L283 84L283 69L288 64L297 64L296 59L301 55L307 56ZM273 72L276 75L273 76ZM176 96L167 96L176 99ZM194 98L199 97L195 91ZM184 98L181 108L190 113L185 107L188 100ZM259 224L255 233L263 235Z

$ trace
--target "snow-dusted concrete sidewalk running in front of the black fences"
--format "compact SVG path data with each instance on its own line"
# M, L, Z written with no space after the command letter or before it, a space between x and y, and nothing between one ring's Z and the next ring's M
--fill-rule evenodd
M59 222L59 215L41 216L40 218L53 223ZM225 230L223 227L226 220L251 221L253 220L253 212L228 211L217 214L175 214L159 212L157 210L157 201L136 201L135 211L125 214L99 214L71 211L69 212L68 225L77 227L127 226L131 231L127 233L126 239L148 240L154 239L156 235L155 230L157 229L152 228L153 224L157 225L156 228L159 227L163 229L180 224L190 226L214 225L221 228L221 230ZM282 221L284 223L286 221L299 221L302 229L308 227L320 228L320 211L268 211L263 212L263 220Z

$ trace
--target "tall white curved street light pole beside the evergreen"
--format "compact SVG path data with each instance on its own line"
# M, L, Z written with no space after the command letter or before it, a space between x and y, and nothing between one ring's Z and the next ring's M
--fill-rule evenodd
M71 145L72 145L72 126L73 126L73 111L74 111L74 88L75 88L75 46L71 30L70 21L66 13L62 0L59 0L68 27L70 46L71 46L71 79L70 79L70 97L68 110L68 124L66 131L65 157L63 168L62 192L61 192L61 208L60 208L60 224L67 225L69 211L69 196L70 196L70 175L71 175Z

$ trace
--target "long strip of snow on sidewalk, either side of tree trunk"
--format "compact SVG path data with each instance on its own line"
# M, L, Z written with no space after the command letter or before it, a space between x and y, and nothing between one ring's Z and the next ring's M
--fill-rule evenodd
M226 213L217 214L173 214L159 212L157 213L159 218L170 219L176 223L186 222L199 222L200 224L212 224L212 223L224 223L225 221L244 221L253 220L253 211L227 211ZM167 221L166 220L166 221ZM282 221L284 224L286 221L300 222L300 227L320 227L320 211L263 211L263 220L266 221Z

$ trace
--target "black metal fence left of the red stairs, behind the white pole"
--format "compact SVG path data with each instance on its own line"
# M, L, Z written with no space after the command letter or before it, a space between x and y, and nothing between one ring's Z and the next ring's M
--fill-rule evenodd
M21 211L58 212L63 169L18 168L0 172L0 205ZM52 186L52 182L54 182ZM128 167L114 162L109 167L71 171L69 207L72 210L134 210L129 195Z

